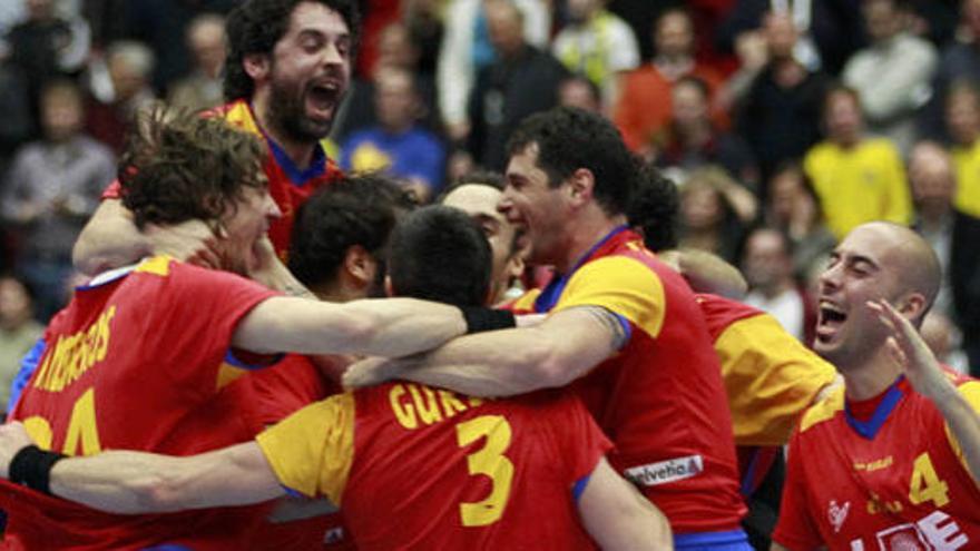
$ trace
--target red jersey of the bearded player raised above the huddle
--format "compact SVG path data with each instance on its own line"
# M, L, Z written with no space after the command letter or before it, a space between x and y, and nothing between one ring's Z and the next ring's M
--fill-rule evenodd
M305 170L296 168L280 147L265 135L258 126L248 101L244 99L237 99L212 109L205 115L224 117L228 122L261 136L266 142L268 155L266 155L263 167L265 177L268 179L268 194L283 213L282 217L272 220L268 237L280 257L285 258L290 249L290 236L293 233L296 209L310 198L313 191L339 178L342 174L340 167L326 158L323 147L320 146L314 151L314 161L310 168ZM118 199L120 193L121 186L117 180L102 191L102 198Z

